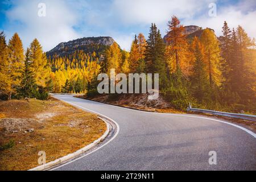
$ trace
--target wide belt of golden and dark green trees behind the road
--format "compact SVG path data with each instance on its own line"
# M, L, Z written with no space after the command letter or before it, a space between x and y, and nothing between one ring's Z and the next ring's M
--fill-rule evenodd
M193 102L205 109L255 110L256 51L250 48L255 40L241 26L230 31L226 22L219 38L210 28L194 38L184 31L172 16L166 39L152 23L147 40L135 36L130 52L114 42L102 52L78 48L48 57L37 39L24 56L18 34L7 45L1 32L0 97L44 99L49 92L96 96L98 74L115 69L126 75L159 73L160 93L177 109Z

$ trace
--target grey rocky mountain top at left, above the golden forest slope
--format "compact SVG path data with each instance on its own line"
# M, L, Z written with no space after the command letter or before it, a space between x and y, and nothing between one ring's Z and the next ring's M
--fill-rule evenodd
M99 53L111 46L114 42L114 39L109 36L71 40L58 44L55 48L51 49L51 51L47 52L47 56L65 56L77 50L83 50L85 53L92 53L93 51Z

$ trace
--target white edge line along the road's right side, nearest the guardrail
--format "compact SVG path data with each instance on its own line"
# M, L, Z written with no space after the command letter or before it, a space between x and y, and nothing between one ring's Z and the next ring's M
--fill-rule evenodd
M77 98L77 97L75 97L75 98ZM80 99L82 99L82 98L80 98ZM96 101L91 101L91 100L86 100L86 101L96 102ZM97 102L97 103L102 104L102 105L105 104L105 103L102 103L102 102ZM236 124L233 124L233 123L230 123L230 122L221 121L221 120L218 120L218 119L212 119L212 118L206 118L206 117L199 117L199 116L193 116L193 115L185 115L185 114L156 113L156 112L150 112L150 111L144 111L144 110L130 109L130 108L127 108L127 107L120 107L120 106L115 106L115 105L110 105L110 104L106 104L106 105L113 106L113 107L118 107L118 108L122 108L122 109L128 109L128 110L134 110L134 111L141 111L141 112L146 112L146 113L168 114L168 115L176 115L176 116L182 116L182 117L192 117L192 118L208 119L208 120L217 121L217 122L221 122L221 123L225 123L225 124L228 124L228 125L237 127L238 129L241 129L241 130L245 131L246 133L252 135L254 138L256 138L256 134L253 133L253 131L250 131L250 130L248 130L248 129L242 127L242 126L239 126L239 125L236 125Z

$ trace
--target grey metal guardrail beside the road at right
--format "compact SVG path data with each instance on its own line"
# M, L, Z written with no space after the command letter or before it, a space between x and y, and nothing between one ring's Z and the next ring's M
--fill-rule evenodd
M250 115L250 114L225 113L221 111L196 109L192 107L188 107L187 111L193 111L197 113L207 113L207 114L213 114L213 115L222 115L230 118L239 118L239 119L247 119L250 121L256 121L256 115Z

